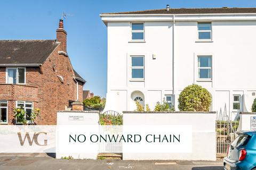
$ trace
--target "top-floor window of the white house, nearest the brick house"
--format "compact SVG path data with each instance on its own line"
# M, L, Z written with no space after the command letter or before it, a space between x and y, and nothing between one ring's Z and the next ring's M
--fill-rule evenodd
M144 23L131 23L132 27L132 40L144 40Z

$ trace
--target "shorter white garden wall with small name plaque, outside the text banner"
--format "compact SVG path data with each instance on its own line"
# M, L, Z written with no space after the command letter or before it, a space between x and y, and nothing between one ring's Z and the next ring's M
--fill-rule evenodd
M82 116L79 120L73 120L72 116ZM90 145L92 152L73 153L66 152L66 147L63 145L64 141L60 141L60 135L58 128L67 128L68 125L74 128L75 125L92 125L95 127L99 126L99 112L98 111L60 111L57 113L57 134L56 134L56 158L72 156L74 159L97 159L98 155L98 143ZM85 127L85 126L84 126ZM62 142L62 143L61 143ZM62 145L60 145L62 144ZM71 146L71 145L70 145ZM74 147L74 146L73 146Z

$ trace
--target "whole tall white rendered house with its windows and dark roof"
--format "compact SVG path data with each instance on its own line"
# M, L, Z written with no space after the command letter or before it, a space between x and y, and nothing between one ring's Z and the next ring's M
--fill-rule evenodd
M176 8L102 13L108 33L105 111L154 109L163 98L178 111L181 90L199 84L212 111L233 119L256 97L256 8Z

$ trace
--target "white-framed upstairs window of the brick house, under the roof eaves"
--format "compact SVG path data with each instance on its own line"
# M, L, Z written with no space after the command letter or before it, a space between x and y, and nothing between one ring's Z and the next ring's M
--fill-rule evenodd
M10 67L6 69L6 83L25 84L26 71L23 67Z

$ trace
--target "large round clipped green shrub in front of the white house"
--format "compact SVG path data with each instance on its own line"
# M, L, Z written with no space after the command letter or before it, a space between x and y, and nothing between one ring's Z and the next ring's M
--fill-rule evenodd
M210 92L197 84L183 89L178 100L180 111L209 111L212 103Z

